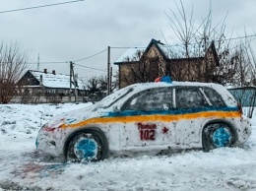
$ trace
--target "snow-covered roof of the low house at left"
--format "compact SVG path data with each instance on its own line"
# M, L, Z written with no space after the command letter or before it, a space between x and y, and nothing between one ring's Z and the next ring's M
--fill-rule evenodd
M52 73L44 73L39 71L29 70L28 72L32 73L32 76L40 82L40 78L42 78L42 86L47 88L61 88L61 89L69 89L70 88L70 76L63 74L52 74ZM41 76L41 77L40 77ZM74 89L74 84L72 83L72 89ZM86 85L83 81L78 79L78 90L85 90Z

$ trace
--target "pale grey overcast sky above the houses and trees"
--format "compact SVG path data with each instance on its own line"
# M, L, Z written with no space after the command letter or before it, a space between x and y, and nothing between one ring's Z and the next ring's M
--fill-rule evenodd
M69 0L1 0L0 12L33 6L67 2ZM176 1L178 3L178 1ZM208 0L183 0L187 12L193 6L194 19L201 22L209 10ZM226 18L226 32L242 35L256 31L255 0L212 0L213 20ZM174 0L85 0L0 14L0 39L17 41L30 55L29 69L69 74L68 63L110 47L147 46L152 38L174 43L173 32L164 12L176 10ZM256 40L255 40L256 41ZM126 48L111 48L111 64ZM255 50L256 51L256 50ZM75 73L83 80L106 75L107 51L76 62ZM90 67L90 68L86 68ZM114 66L113 66L114 67ZM94 69L91 69L94 68ZM116 67L114 67L116 70Z

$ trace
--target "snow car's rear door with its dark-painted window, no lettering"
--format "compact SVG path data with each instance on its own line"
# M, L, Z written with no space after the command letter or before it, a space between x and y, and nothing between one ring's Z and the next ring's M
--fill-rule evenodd
M176 87L174 95L176 144L195 147L200 144L200 129L212 103L200 87Z

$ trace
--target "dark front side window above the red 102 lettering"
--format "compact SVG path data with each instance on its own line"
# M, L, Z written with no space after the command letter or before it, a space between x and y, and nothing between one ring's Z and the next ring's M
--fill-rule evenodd
M122 110L168 110L172 106L172 89L169 87L155 88L132 96Z

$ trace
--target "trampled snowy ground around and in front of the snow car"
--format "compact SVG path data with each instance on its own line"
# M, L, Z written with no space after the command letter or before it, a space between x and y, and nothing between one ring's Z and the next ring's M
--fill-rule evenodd
M85 105L0 105L0 191L256 190L256 117L244 148L94 163L41 161L34 145L39 127Z

